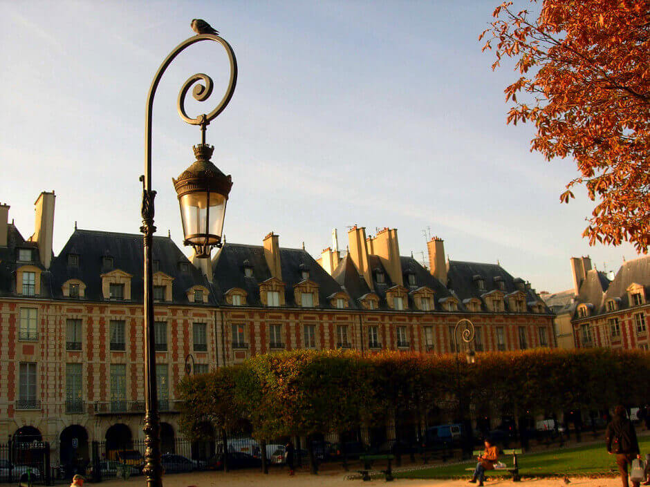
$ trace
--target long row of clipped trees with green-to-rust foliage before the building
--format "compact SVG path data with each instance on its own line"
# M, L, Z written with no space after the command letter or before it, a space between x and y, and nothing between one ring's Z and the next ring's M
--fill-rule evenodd
M257 439L308 437L434 408L468 417L648 403L650 354L539 349L482 353L468 364L451 354L299 350L187 376L179 390L181 428L194 439L206 421L225 435L242 420Z

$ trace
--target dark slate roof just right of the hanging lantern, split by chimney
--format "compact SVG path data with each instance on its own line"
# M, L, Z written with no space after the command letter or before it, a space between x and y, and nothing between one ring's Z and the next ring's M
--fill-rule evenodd
M293 288L303 281L302 271L309 271L309 280L318 285L319 306L331 308L328 296L343 289L338 283L303 249L280 248L280 267L282 282L285 284L286 307L299 307L295 303ZM246 277L244 267L252 269L252 277ZM213 289L219 304L225 305L225 293L234 287L248 293L249 306L261 306L259 285L270 279L271 271L266 263L264 247L226 243L212 262ZM353 307L353 303L350 303Z

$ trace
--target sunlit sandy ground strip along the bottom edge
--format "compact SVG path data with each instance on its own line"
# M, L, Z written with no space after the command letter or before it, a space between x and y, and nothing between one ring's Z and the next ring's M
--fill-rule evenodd
M353 472L349 472L353 473ZM373 479L364 482L360 479L346 480L346 472L323 472L319 475L310 475L308 472L297 472L295 477L289 477L286 470L275 470L263 475L261 472L196 472L191 474L176 474L163 477L165 487L333 487L333 486L373 486L385 484L384 479ZM144 486L144 477L134 479L103 481L102 486ZM466 480L418 480L396 479L395 486L403 487L472 487ZM486 487L566 487L562 479L524 479L521 482L512 480L494 479L485 483ZM571 479L571 487L620 487L620 478L604 479Z

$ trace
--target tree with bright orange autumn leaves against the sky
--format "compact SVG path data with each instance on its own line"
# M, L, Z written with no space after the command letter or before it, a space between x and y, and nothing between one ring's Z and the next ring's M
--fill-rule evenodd
M538 4L537 0L530 3ZM583 236L650 242L650 0L541 0L539 15L505 1L480 39L519 78L505 88L508 123L531 122L531 151L573 157L597 202ZM532 6L535 10L536 6ZM539 10L539 9L537 9Z

